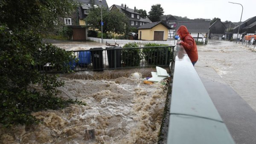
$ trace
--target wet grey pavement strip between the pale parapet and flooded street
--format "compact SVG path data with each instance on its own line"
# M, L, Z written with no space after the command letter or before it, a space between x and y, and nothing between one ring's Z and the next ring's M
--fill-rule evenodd
M236 144L255 144L255 111L212 68L197 72Z

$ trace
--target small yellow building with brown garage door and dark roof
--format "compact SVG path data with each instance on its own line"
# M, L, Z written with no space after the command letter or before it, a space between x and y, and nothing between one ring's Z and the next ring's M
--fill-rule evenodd
M138 40L167 40L171 28L163 22L153 22L137 29L139 31Z

